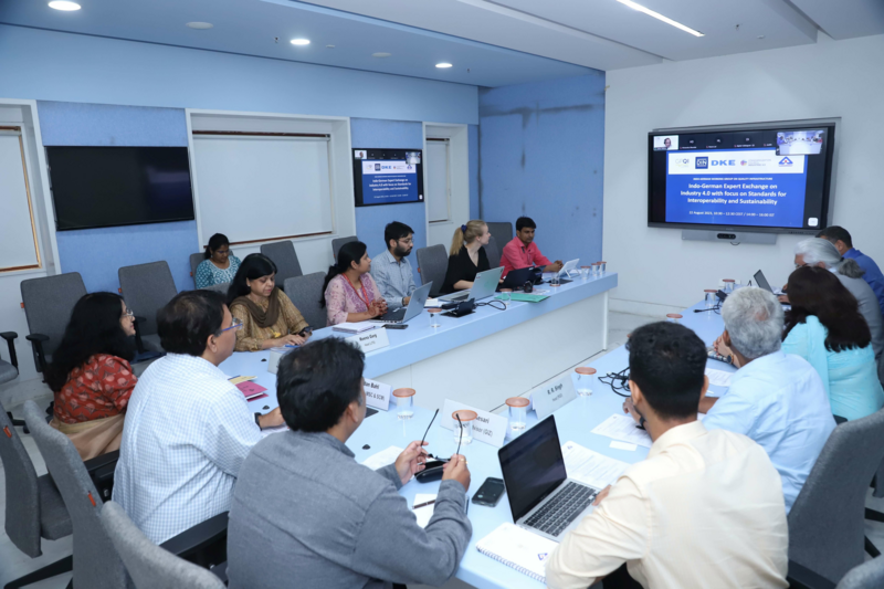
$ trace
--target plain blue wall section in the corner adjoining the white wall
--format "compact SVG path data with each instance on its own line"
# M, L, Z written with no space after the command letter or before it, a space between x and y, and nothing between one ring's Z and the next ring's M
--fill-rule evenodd
M482 218L528 215L550 260L601 260L604 74L481 88L478 113Z

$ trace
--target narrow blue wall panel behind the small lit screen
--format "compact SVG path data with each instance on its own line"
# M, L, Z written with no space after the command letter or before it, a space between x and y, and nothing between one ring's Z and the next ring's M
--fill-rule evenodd
M351 118L350 141L354 148L423 149L423 125L403 120ZM368 245L369 256L375 257L386 250L383 228L391 221L406 223L414 230L414 249L409 262L414 282L420 284L414 252L418 248L427 248L427 206L423 202L409 202L357 208L356 233L359 241Z

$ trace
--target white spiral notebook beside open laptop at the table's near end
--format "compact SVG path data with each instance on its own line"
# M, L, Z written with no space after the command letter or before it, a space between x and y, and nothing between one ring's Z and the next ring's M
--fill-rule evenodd
M557 543L505 523L478 540L476 549L523 575L546 582L546 562Z

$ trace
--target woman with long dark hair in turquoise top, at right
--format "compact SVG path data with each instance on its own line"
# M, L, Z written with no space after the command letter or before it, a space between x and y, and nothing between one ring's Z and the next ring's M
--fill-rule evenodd
M782 351L801 356L822 378L832 413L844 419L884 407L869 325L856 298L834 274L818 266L789 276Z

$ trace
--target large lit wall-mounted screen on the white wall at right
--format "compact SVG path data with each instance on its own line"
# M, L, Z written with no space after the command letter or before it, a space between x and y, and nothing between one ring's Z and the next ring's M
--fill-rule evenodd
M648 225L815 233L831 219L833 123L648 134Z

